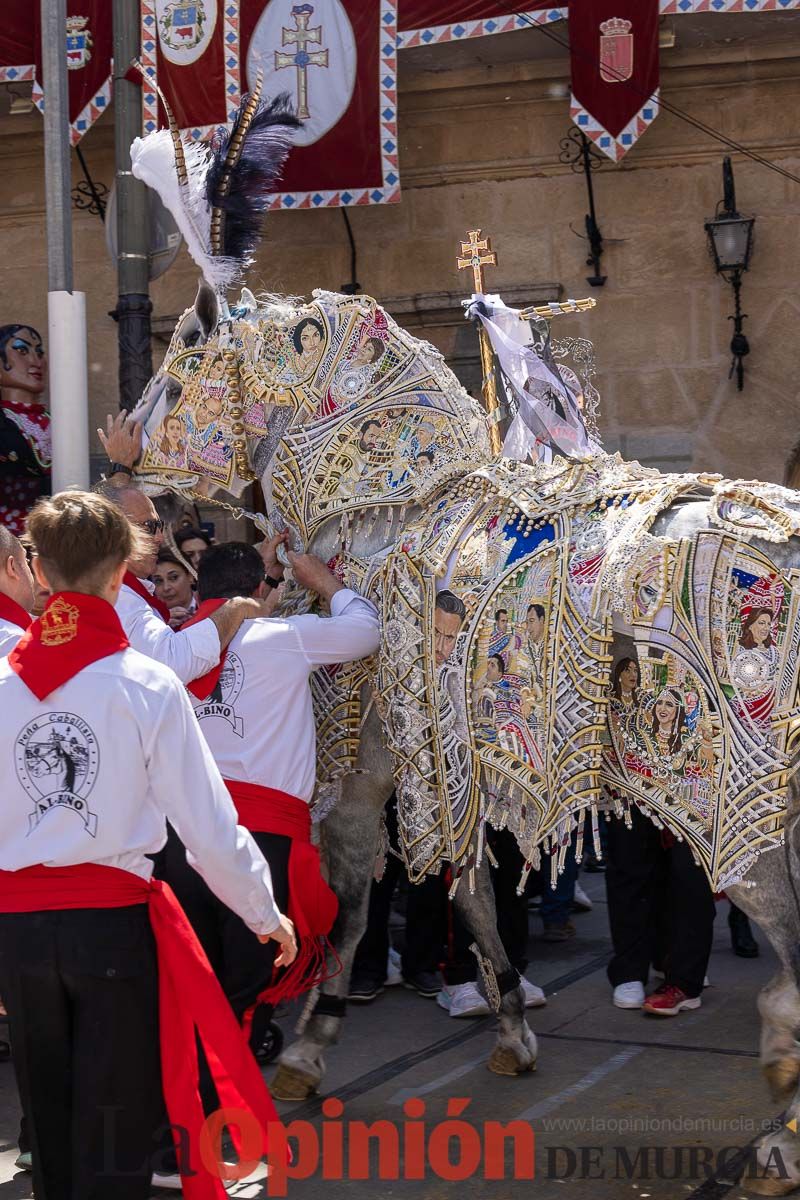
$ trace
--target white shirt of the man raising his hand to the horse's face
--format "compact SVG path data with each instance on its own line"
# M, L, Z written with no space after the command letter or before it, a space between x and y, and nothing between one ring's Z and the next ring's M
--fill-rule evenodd
M172 667L181 683L191 683L219 661L219 635L212 620L175 631L127 583L120 588L116 616L133 649Z

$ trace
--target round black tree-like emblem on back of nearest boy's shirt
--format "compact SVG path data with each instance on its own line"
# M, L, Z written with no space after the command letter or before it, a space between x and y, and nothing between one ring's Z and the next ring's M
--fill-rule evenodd
M97 739L82 716L74 713L47 713L30 721L14 745L17 778L34 802L28 815L28 833L54 809L68 809L94 838L97 816L89 808L89 794L97 779Z

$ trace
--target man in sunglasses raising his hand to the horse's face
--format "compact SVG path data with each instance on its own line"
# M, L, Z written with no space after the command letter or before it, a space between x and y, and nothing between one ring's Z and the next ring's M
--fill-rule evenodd
M207 620L191 629L170 629L169 612L162 611L148 582L163 541L163 522L152 500L137 487L103 487L101 492L146 535L144 552L128 564L116 601L122 629L134 649L172 667L181 683L190 683L218 664L221 650L255 610L248 600L231 598Z

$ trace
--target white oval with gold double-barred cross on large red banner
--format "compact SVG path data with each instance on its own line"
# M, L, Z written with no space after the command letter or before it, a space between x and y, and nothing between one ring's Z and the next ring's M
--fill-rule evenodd
M332 130L348 109L355 86L357 50L350 19L339 0L271 0L247 52L247 82L259 67L264 95L289 92L302 128L294 140L307 146Z

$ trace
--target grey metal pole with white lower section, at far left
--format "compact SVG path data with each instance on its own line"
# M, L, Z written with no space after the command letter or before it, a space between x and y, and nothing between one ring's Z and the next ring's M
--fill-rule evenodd
M86 305L72 280L66 0L41 0L53 491L89 487Z

